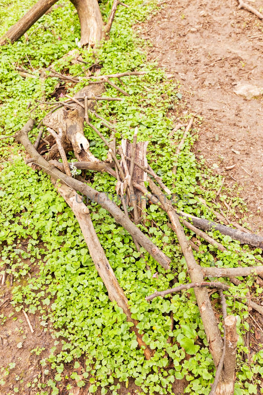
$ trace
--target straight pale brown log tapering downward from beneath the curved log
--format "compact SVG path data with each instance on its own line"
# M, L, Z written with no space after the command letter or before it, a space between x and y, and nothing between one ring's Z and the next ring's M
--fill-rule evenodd
M90 212L88 207L81 201L81 197L77 199L76 192L73 188L65 185L56 183L56 189L60 193L60 195L65 199L69 207L71 207L73 213L78 220L80 225L80 229L88 246L88 250L90 252L90 256L93 260L93 263L96 267L99 276L103 280L103 283L108 291L109 299L114 302L116 301L117 305L123 309L123 312L127 316L127 321L132 322L133 326L130 327L131 331L134 331L137 337L137 341L139 346L144 346L144 356L146 359L150 359L153 356L152 350L149 346L146 346L144 341L142 340L143 334L138 333L138 329L136 325L138 325L138 321L133 320L131 318L131 311L128 305L128 299L125 296L123 289L119 286L118 280L110 266L109 261L106 258L105 252L99 242L97 233L94 229L90 218Z

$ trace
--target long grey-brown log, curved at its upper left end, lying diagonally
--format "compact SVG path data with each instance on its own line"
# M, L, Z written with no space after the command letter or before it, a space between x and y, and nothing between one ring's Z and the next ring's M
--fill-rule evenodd
M116 222L123 226L131 235L138 241L138 243L149 252L149 254L158 262L164 269L170 269L170 258L166 256L159 248L149 240L140 229L138 229L134 223L125 217L124 213L119 207L111 201L108 196L104 193L100 193L97 190L91 188L87 184L80 182L72 177L68 177L63 174L56 167L49 164L34 148L28 138L28 132L34 127L34 120L29 119L24 127L17 132L16 140L21 143L28 154L32 157L35 164L42 167L42 169L49 174L51 177L60 179L61 182L71 186L73 189L79 191L81 194L87 196L89 199L96 201L101 207L106 209L115 218Z

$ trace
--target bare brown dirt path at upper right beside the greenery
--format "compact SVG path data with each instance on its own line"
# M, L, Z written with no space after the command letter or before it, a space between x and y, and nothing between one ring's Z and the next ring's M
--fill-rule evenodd
M153 43L150 57L181 82L189 111L203 117L196 154L218 166L226 185L237 180L244 188L250 225L262 232L262 21L235 0L172 0L147 23L143 38ZM247 84L261 88L252 93L257 98L237 94Z

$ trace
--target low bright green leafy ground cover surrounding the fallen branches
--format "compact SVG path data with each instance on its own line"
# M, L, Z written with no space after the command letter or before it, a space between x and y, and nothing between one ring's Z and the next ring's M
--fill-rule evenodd
M34 1L29 0L11 4L4 1L0 34L32 4ZM195 127L186 139L175 178L172 167L176 142L180 141L183 131L171 138L168 133L173 129L174 117L178 116L183 100L179 82L167 78L155 63L146 61L147 43L132 28L135 23L144 21L155 12L156 4L142 0L128 0L127 4L129 8L118 8L110 39L96 53L91 49L80 49L80 53L90 64L99 59L102 74L127 70L142 70L147 71L147 74L123 77L130 96L122 102L100 103L97 112L115 124L118 142L121 138L131 140L134 128L138 126L138 139L149 141L149 164L176 194L178 208L202 218L214 219L209 207L215 208L212 200L216 197L222 178L207 169L203 158L197 160L191 151L198 138L201 119L196 120ZM110 4L101 3L101 10L106 19ZM27 109L28 103L41 99L43 82L38 78L40 69L52 63L56 71L67 70L70 75L82 71L81 64L71 64L72 57L62 58L77 47L76 39L80 38L78 17L70 3L39 19L28 31L28 36L28 41L23 37L13 45L8 44L0 49L1 135L13 135L22 128L32 109ZM21 77L17 66L27 68L36 78ZM86 83L67 83L64 88L67 94L72 95ZM44 84L48 100L55 100L53 92L58 79L48 77ZM108 96L117 96L116 90L109 86L106 93ZM33 107L35 105L37 102L32 104ZM37 106L35 111L41 119L48 109ZM185 115L184 119L190 119L190 116ZM109 137L101 121L94 118L92 123L105 137ZM34 129L30 135L32 141L36 133ZM91 143L91 152L98 159L105 160L107 149L101 139L88 126L85 126L85 134ZM144 251L147 265L151 268L147 270L145 260L136 251L131 235L118 226L105 209L97 203L88 202L91 219L106 257L129 299L132 318L139 321L138 329L144 332L145 343L156 350L155 355L146 361L143 350L137 349L136 336L129 332L129 323L122 309L108 299L75 216L54 190L49 177L24 163L24 152L12 138L0 140L0 155L0 253L2 267L6 267L7 274L14 276L12 305L17 312L24 308L30 314L37 314L44 331L50 331L54 339L49 357L41 359L41 364L46 372L55 369L56 374L47 384L41 384L38 393L47 395L51 388L52 395L58 394L57 383L61 380L64 366L74 362L77 368L78 359L82 358L86 372L82 378L74 372L71 378L77 381L79 387L88 380L91 383L90 393L95 393L99 388L102 395L108 391L116 395L119 382L125 382L129 387L129 379L132 378L140 387L140 393L170 394L173 393L175 379L186 377L186 393L208 394L215 366L193 290L172 295L171 300L158 297L151 303L145 301L145 296L155 290L170 288L169 283L174 278L178 283L189 281L185 258L175 233L169 227L166 213L157 205L147 206L147 222L140 227L171 258L171 269L165 271ZM114 194L116 180L112 176L90 173L90 178L90 185L94 188ZM172 186L174 180L175 187ZM225 193L222 199L228 198L227 191ZM200 203L198 197L205 199L209 207ZM241 213L245 210L238 190L232 207ZM215 258L218 267L236 267L239 261L243 266L253 265L255 258L262 262L259 248L241 246L218 231L209 234L228 246L228 251L220 252L201 240L200 251L195 251L194 255L202 266L215 265ZM26 248L21 248L22 241L27 242ZM26 258L30 263L25 263ZM34 274L31 278L28 276L30 272ZM244 346L242 335L249 330L246 323L248 310L235 297L244 297L247 287L252 284L252 276L240 286L229 283L232 286L226 296L228 312L237 316L237 330L241 335L237 354L237 395L256 394L263 373L262 351L253 355L252 363L248 363L244 357L248 348ZM262 289L256 286L255 296L261 292ZM211 297L215 299L215 309L220 315L218 293L213 293ZM175 320L173 331L170 328L170 312L173 312ZM47 323L52 325L47 328ZM173 337L170 344L167 343L169 336ZM58 345L62 345L59 352ZM32 350L37 355L41 355L41 351L41 348ZM186 358L186 354L190 358ZM68 390L70 393L70 388Z

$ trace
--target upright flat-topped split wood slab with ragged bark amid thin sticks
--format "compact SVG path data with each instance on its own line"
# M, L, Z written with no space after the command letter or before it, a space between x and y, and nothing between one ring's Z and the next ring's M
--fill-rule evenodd
M147 180L147 173L144 170L140 169L137 164L140 164L142 167L147 169L147 145L149 141L140 141L137 143L136 141L136 149L135 149L135 157L133 162L133 174L132 181L135 181L137 184L144 186L144 181ZM125 154L125 158L132 156L132 144L127 140L121 140L121 148ZM133 159L131 158L133 161ZM128 170L131 170L131 160L127 162ZM138 218L143 217L145 209L146 209L146 201L142 199L142 193L139 190L134 191L135 201L133 202L133 206L136 205L138 211ZM144 222L144 220L142 220Z

